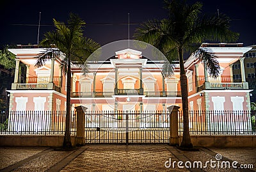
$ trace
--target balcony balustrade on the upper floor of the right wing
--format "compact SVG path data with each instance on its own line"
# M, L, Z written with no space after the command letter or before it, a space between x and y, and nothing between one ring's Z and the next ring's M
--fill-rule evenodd
M197 91L243 90L243 89L248 89L248 82L220 82L220 83L205 82L202 86L198 87Z

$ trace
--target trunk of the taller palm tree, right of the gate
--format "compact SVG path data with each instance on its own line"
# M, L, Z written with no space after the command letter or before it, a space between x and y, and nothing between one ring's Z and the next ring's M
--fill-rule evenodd
M179 62L180 62L180 89L182 97L182 111L183 111L183 137L181 147L193 148L189 135L189 118L188 118L188 81L184 68L183 49L179 48Z

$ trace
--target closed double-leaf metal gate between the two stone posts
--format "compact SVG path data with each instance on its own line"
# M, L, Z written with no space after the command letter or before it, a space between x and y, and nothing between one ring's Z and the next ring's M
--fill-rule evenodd
M168 143L169 115L163 111L87 112L86 143Z

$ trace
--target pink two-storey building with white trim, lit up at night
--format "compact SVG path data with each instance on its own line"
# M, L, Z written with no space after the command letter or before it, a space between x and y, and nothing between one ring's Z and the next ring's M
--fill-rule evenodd
M218 57L220 76L209 77L199 59L191 55L185 62L190 110L250 110L250 91L244 76L244 53L251 47L243 43L203 43ZM59 111L66 106L66 77L60 61L48 61L35 67L42 48L9 49L16 56L15 79L10 91L10 110ZM72 109L83 105L88 111L166 111L171 105L182 106L179 64L174 75L161 75L164 61L150 61L140 51L124 49L104 62L89 61L90 73L72 66ZM232 65L241 63L242 82L233 82ZM27 66L26 83L19 83L19 63Z

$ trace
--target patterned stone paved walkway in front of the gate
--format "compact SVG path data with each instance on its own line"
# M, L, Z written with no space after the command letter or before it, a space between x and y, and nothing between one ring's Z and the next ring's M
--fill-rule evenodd
M183 162L179 166L191 163L199 168L179 168L178 161ZM210 164L211 161L215 162ZM232 162L237 169L232 168ZM221 164L228 163L230 168L221 168ZM251 169L239 168L250 164ZM199 152L184 152L168 145L86 145L70 151L0 147L0 171L256 171L256 148L200 148Z

